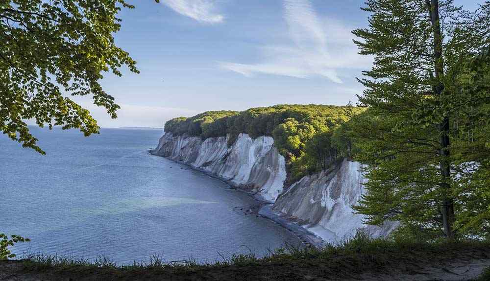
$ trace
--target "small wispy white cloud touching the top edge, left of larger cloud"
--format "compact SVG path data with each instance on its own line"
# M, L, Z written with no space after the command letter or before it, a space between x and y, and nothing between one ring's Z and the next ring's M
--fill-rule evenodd
M223 15L216 11L216 0L162 0L175 12L201 23L221 23Z

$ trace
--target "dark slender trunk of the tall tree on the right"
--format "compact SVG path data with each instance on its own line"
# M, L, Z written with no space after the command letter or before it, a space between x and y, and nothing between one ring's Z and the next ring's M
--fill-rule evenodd
M437 85L434 87L434 94L441 97L444 92L444 86L441 82L441 77L444 74L444 65L442 61L442 35L441 23L439 18L439 1L426 0L429 6L429 13L434 28L434 70ZM442 194L442 227L447 238L453 239L453 224L454 224L454 200L451 197L451 165L449 151L449 117L443 113L442 122L439 124L440 145L441 145L441 194Z

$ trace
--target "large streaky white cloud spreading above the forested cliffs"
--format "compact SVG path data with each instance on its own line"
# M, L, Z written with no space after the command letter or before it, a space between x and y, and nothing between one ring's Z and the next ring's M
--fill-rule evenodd
M366 65L352 43L351 29L337 22L320 21L309 0L284 0L284 19L289 45L262 47L264 59L260 63L222 62L221 68L248 77L255 73L297 78L319 75L342 83L338 69Z

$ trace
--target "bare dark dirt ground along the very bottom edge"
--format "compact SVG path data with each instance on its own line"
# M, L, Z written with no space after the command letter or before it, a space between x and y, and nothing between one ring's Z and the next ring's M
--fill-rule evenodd
M365 280L365 281L469 281L476 279L486 267L490 266L490 257L465 259L458 261L447 260L438 264L421 265L413 263L398 268L372 268L359 272L356 264L345 264L344 272L329 270L328 265L321 266L301 263L270 264L250 266L224 266L199 268L191 271L177 272L174 270L150 270L143 272L120 272L103 268L70 268L70 269L26 269L23 261L0 261L1 281L197 281L197 280Z

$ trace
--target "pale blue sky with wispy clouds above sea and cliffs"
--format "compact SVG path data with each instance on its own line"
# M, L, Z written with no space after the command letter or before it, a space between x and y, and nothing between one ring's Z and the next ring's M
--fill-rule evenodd
M140 74L105 73L101 85L122 107L111 119L75 99L101 127L163 127L208 110L275 104L357 102L356 77L372 59L351 30L367 26L364 0L128 0L119 47ZM474 9L480 0L456 0Z

